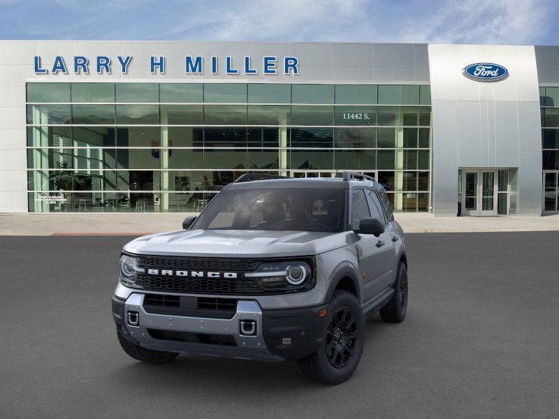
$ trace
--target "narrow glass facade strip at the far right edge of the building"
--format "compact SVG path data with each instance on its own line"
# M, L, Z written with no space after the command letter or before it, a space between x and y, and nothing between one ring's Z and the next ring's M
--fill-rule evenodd
M557 212L559 174L559 87L540 87L542 112L543 212Z

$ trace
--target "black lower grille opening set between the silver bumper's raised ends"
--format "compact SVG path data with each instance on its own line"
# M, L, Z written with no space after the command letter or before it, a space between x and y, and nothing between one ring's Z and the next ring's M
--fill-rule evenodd
M189 295L146 294L143 307L148 313L170 316L233 318L237 311L237 300Z

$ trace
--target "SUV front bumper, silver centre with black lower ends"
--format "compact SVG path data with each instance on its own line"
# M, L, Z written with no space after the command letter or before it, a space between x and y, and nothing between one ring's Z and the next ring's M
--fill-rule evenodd
M255 300L238 300L231 318L208 318L148 313L143 300L143 293L113 296L112 316L125 339L154 351L281 362L317 351L324 333L325 305L263 310ZM138 314L137 325L129 313ZM255 322L254 335L241 333L241 321Z

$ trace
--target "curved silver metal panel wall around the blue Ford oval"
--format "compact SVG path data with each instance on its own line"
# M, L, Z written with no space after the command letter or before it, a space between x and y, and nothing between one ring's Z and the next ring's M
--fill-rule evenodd
M534 47L429 45L433 213L456 216L458 168L517 168L511 212L542 212L542 145ZM505 66L499 82L465 78L469 64Z

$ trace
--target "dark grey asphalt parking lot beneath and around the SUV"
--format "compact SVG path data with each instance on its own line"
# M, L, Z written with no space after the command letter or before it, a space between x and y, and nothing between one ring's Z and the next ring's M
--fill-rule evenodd
M556 418L559 232L407 235L409 309L347 383L291 363L145 365L110 310L131 237L0 237L3 418Z

